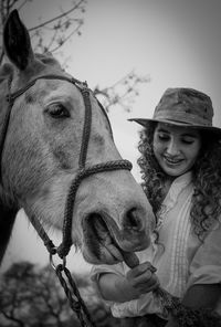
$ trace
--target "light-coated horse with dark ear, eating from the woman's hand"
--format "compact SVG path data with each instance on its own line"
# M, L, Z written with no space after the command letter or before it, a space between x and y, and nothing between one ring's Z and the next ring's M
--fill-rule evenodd
M33 52L13 10L0 68L0 260L23 208L51 255L74 244L92 264L137 264L154 214L131 164L123 160L107 114L86 82L51 54ZM63 240L55 246L53 226ZM45 231L46 230L46 231Z

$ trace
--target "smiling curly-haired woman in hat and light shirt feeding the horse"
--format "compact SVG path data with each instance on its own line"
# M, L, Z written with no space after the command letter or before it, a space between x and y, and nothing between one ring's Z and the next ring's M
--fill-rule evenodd
M191 310L219 307L221 128L212 126L212 116L208 95L179 87L164 93L152 118L131 119L145 127L138 164L157 222L151 245L137 253L139 265L93 268L115 317L145 316L168 327L180 326L179 320L188 327L196 319ZM172 305L159 302L159 285L189 307L189 314L181 316L182 309L173 312ZM211 312L211 326L220 326L221 316L213 320ZM196 315L199 326L209 326Z

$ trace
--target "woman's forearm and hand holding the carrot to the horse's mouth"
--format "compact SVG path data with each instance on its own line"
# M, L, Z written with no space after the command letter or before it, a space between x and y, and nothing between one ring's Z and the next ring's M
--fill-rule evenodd
M102 296L106 300L127 302L138 298L141 294L148 293L159 285L156 270L148 263L139 264L131 268L126 276L114 273L101 274L98 286Z

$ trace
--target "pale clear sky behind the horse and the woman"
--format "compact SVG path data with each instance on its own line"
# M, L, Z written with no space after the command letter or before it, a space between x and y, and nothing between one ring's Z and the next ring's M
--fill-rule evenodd
M32 28L39 17L53 17L56 6L70 8L67 0L33 0L21 19ZM141 85L131 113L113 108L109 113L116 146L137 166L139 125L127 119L152 116L168 87L192 87L207 93L213 103L213 124L221 127L221 1L220 0L87 0L82 36L75 36L63 53L67 71L91 88L113 85L134 70L149 76ZM54 238L57 233L54 232ZM81 254L67 257L73 271L90 265ZM2 270L12 262L29 260L48 264L42 241L21 210L4 257Z

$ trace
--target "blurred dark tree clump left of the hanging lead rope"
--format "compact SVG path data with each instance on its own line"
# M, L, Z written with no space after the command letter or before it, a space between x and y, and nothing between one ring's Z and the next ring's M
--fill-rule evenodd
M61 315L69 308L57 293L57 282L48 268L38 271L29 262L13 264L1 278L1 326L8 321L21 327L62 326Z

